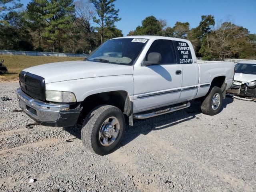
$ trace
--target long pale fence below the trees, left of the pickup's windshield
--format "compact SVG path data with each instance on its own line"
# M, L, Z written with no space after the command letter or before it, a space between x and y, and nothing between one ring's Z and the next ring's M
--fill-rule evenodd
M0 50L0 55L28 55L28 56L56 56L56 57L88 56L88 54L51 53L51 52L37 52L37 51L9 51L9 50Z

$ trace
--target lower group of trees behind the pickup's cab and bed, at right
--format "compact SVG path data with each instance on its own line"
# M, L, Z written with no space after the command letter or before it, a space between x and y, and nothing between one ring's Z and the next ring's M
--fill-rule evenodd
M212 15L202 15L199 25L192 29L188 22L176 22L170 27L166 20L149 16L128 35L160 35L188 39L192 42L196 56L203 60L256 58L256 34L250 34L248 29L235 25L230 19L216 23Z

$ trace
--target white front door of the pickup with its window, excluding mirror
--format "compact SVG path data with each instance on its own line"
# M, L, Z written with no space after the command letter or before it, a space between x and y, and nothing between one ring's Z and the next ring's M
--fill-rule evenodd
M171 40L154 40L144 60L151 52L161 54L160 64L134 66L134 112L157 108L180 98L182 66L177 64Z

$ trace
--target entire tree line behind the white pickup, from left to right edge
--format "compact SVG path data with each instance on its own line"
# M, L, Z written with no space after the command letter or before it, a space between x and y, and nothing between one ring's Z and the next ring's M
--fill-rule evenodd
M32 0L26 8L17 0L0 0L0 49L88 53L104 41L123 36L116 0ZM12 5L12 6L10 6ZM204 60L256 58L256 34L231 20L203 15L195 28L188 22L171 27L148 16L131 35L160 35L192 42Z

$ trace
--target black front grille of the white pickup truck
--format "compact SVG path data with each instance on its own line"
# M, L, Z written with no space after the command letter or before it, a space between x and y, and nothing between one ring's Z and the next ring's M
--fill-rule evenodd
M33 98L45 100L45 83L44 78L21 71L19 75L20 88L23 92Z

